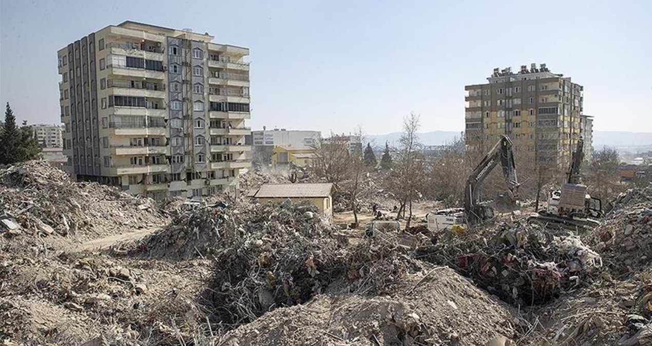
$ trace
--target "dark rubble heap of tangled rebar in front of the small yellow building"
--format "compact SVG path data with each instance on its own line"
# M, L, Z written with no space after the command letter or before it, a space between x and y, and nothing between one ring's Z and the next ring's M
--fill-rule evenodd
M310 203L198 207L143 238L136 251L213 259L213 283L204 299L213 306L213 320L240 324L305 302L341 275L342 243L330 232Z

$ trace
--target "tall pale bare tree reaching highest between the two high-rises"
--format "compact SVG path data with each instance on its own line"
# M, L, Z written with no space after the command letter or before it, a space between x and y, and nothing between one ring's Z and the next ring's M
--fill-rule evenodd
M410 113L403 119L403 133L398 140L398 150L387 184L400 203L396 218L405 218L406 209L409 211L406 228L412 219L412 201L419 194L424 179L419 127L419 115Z

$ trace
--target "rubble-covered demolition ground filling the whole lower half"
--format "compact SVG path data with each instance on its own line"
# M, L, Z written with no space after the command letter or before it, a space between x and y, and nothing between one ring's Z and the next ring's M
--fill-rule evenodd
M0 201L3 345L652 343L649 187L591 231L504 214L434 233L424 202L373 237L310 204L183 209L42 161L0 169Z

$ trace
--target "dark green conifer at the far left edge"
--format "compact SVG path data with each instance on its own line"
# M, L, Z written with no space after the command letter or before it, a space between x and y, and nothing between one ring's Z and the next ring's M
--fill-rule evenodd
M5 123L0 133L0 164L33 160L39 155L40 147L34 131L27 125L27 121L23 121L20 128L16 126L16 116L7 102Z

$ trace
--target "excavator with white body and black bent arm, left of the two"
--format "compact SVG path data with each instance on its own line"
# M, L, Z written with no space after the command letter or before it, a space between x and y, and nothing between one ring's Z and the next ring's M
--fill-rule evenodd
M498 164L503 167L505 183L509 188L509 199L514 202L518 201L519 184L516 179L516 164L512 147L511 139L501 136L466 180L464 209L443 209L428 213L426 215L428 229L432 231L442 229L463 231L466 227L492 220L494 209L490 203L480 201L479 186Z

